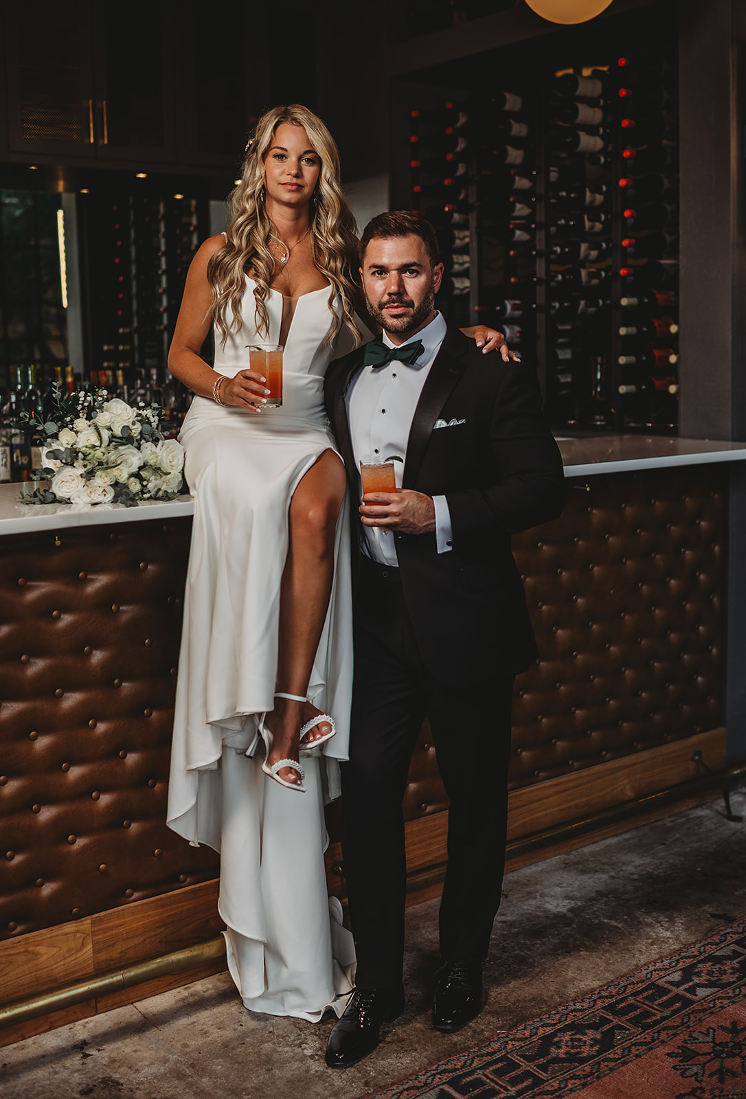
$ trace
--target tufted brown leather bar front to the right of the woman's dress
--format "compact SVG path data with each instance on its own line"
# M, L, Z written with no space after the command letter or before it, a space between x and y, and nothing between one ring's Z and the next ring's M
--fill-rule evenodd
M726 477L569 481L563 518L513 539L542 660L516 679L511 789L720 724ZM405 817L446 807L425 724Z

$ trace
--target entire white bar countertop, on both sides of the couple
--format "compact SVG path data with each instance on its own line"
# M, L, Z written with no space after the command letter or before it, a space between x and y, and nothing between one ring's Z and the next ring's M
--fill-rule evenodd
M711 440L609 435L594 439L558 437L557 443L566 477L746 460L746 443ZM125 508L122 503L26 504L20 501L21 491L21 485L0 485L0 535L55 531L65 526L132 523L144 519L178 519L194 513L191 496L180 496L169 501L147 500L136 508Z

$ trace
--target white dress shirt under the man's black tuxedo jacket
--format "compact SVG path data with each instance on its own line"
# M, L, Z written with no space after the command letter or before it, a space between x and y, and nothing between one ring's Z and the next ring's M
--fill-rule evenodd
M364 366L353 379L345 403L360 495L363 493L359 476L360 459L385 462L391 455L398 454L400 458L407 460L407 442L414 411L445 334L446 322L436 311L430 324L415 332L407 343L397 348L403 349L410 343L422 341L422 354L411 366L394 358L387 366ZM386 332L382 340L385 346L396 347ZM394 462L393 466L397 488L401 488L404 464ZM433 497L433 502L437 552L447 553L452 548L448 503L444 496ZM392 531L383 526L360 525L363 552L381 565L398 565Z

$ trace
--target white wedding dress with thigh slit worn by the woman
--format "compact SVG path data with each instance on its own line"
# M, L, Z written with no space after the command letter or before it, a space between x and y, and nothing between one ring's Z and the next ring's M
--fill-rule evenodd
M324 345L331 291L293 301L272 290L269 333L258 335L253 290L247 277L243 328L224 348L215 336L215 369L233 377L247 367L246 345L280 343L291 314L282 406L257 414L196 397L179 435L194 520L168 823L190 843L207 843L221 854L219 910L227 926L229 968L246 1007L315 1021L326 1007L342 1013L355 964L341 906L326 895L323 859L324 803L339 793L338 761L347 757L349 735L346 504L309 686L314 706L334 718L336 735L303 755L305 793L285 789L261 771L256 726L257 715L274 707L290 499L319 456L335 449L323 407L332 357ZM336 299L333 308L338 313Z

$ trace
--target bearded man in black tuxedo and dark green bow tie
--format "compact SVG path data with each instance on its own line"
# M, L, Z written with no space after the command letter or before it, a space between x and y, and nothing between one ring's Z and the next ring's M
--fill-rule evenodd
M402 798L424 717L449 799L433 1024L481 1009L500 903L513 677L536 657L510 536L559 515L563 465L532 369L483 355L434 309L432 226L383 213L360 241L382 336L333 363L326 408L353 509L355 684L342 846L357 988L326 1063L346 1068L404 1007ZM360 458L391 455L402 488L360 500Z

